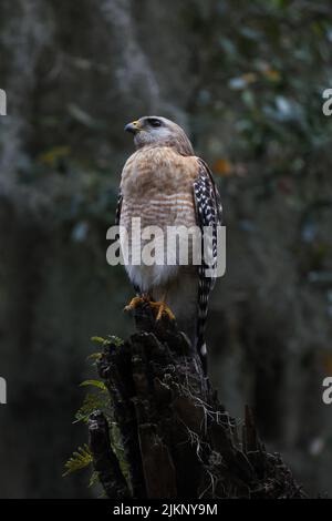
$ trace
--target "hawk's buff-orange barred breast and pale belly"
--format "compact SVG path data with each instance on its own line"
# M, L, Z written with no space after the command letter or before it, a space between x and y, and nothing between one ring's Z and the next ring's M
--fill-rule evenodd
M168 284L178 275L177 243L168 242L167 234L172 227L196 225L193 191L196 176L195 157L183 157L165 147L138 151L125 164L120 224L126 229L126 241L122 241L122 249L129 278L144 290ZM151 234L155 227L163 232L162 236ZM159 257L148 265L144 255L153 249ZM135 263L134 258L141 262ZM176 258L176 264L170 265L169 258Z

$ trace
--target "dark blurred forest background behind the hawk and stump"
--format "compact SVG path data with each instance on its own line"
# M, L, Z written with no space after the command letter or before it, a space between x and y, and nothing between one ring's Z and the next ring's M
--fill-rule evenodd
M86 441L72 421L90 338L133 328L106 229L124 124L146 114L184 125L219 184L214 385L311 494L332 493L331 59L328 0L1 0L0 497L94 493L63 463Z

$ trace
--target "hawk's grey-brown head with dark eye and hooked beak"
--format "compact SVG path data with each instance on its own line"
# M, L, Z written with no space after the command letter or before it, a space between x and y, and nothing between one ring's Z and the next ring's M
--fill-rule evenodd
M137 149L143 146L170 146L181 155L194 155L194 150L185 131L166 118L146 115L125 126L126 132L134 134Z

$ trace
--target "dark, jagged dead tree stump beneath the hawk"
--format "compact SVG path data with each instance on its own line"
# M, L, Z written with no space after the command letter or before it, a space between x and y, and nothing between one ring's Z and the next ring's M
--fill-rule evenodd
M167 317L156 321L146 305L135 321L137 333L120 347L107 345L98 361L126 468L121 470L112 448L108 420L95 411L90 447L106 496L305 497L280 456L266 450L250 410L240 429L220 405L176 324Z

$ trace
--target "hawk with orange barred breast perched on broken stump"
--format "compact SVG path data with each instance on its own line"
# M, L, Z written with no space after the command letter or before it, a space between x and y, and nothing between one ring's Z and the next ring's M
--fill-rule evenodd
M184 130L160 116L144 116L128 123L136 152L126 161L120 186L116 223L128 231L133 218L142 229L158 226L212 227L212 258L217 255L217 226L221 224L220 197L207 164L194 153ZM191 254L193 254L193 243ZM162 244L156 239L156 248ZM199 247L204 247L203 241ZM208 297L215 279L206 275L205 264L125 266L137 296L126 309L147 300L176 318L177 324L205 357L205 321Z

